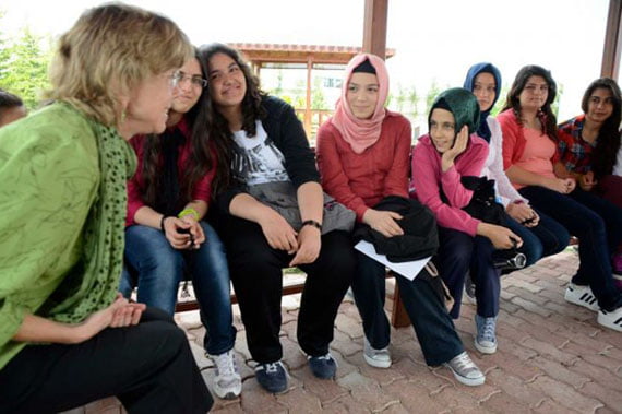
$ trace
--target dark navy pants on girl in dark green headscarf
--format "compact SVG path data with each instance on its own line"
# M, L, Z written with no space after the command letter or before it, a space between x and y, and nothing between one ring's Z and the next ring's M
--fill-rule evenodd
M466 233L439 227L439 255L434 262L450 293L454 297L452 318L460 315L463 291L467 272L475 283L477 315L490 318L499 314L500 272L492 264L494 246L482 236L471 237Z

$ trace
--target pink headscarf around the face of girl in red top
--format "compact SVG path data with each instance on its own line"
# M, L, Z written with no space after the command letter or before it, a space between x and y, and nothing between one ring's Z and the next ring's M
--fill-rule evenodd
M348 84L352 75L352 70L367 59L369 59L369 62L373 69L375 69L375 75L379 84L378 102L371 118L359 119L355 117L350 110L346 99L346 94L348 92ZM386 71L384 61L381 58L371 54L360 54L355 56L348 62L344 85L342 87L342 97L337 100L335 115L331 119L331 122L333 122L335 128L337 128L344 140L350 144L355 153L361 154L367 147L373 145L379 140L382 121L386 115L384 103L386 102L387 94L388 72Z

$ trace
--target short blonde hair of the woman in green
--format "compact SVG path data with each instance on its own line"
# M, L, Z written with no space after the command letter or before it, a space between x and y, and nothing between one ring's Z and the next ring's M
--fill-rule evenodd
M115 126L122 121L121 95L193 56L188 37L169 19L128 4L104 4L86 10L61 36L47 96Z

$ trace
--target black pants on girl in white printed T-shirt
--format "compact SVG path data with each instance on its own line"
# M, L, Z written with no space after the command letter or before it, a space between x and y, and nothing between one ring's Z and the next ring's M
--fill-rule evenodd
M270 247L261 227L234 216L223 217L229 273L247 330L249 351L260 364L283 357L278 340L283 272L291 255ZM223 224L225 224L223 226ZM298 344L310 356L328 352L339 304L355 270L350 235L331 232L322 236L319 258L299 268L307 273L298 312Z

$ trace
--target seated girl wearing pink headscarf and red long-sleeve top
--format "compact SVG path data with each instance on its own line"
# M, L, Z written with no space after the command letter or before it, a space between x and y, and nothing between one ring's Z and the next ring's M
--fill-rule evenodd
M388 196L408 197L410 122L384 108L388 74L384 61L369 54L355 56L346 67L335 115L318 131L318 166L324 191L385 237L403 235L402 216L374 210ZM384 314L386 270L357 252L352 280L355 301L364 330L364 360L376 368L391 366L390 326ZM485 376L470 360L443 303L422 277L396 275L399 293L419 339L426 363L446 365L467 386Z

